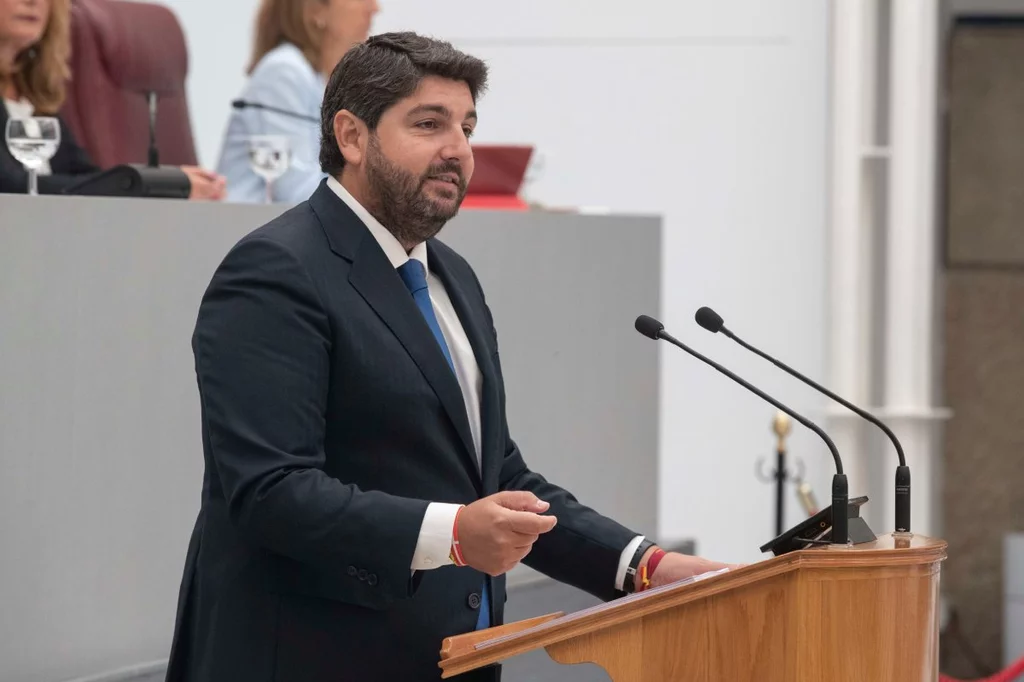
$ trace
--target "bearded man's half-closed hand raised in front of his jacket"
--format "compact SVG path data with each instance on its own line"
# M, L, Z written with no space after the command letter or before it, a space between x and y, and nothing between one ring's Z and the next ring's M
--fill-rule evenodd
M529 554L542 532L555 527L554 516L541 516L550 505L532 493L507 491L477 500L459 514L459 547L473 568L501 576Z

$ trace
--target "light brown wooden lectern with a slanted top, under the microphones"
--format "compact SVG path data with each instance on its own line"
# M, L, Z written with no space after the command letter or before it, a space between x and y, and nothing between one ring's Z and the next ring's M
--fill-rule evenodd
M946 544L819 546L587 610L450 637L442 677L544 647L614 682L935 682Z

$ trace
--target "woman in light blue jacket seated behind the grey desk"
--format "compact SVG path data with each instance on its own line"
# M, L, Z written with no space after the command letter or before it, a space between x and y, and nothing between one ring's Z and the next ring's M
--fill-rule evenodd
M318 121L327 79L345 52L367 39L378 9L377 0L262 1L249 82L241 96L245 104L231 112L217 164L227 179L227 201L267 199L265 181L249 164L254 135L289 138L291 166L273 181L272 201L297 203L313 193L324 177Z

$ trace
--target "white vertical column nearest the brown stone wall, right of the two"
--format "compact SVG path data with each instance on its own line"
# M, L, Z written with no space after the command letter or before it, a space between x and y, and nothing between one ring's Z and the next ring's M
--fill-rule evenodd
M937 535L935 372L939 3L892 2L891 165L886 258L885 416L912 475L911 528ZM884 500L892 518L893 500Z

